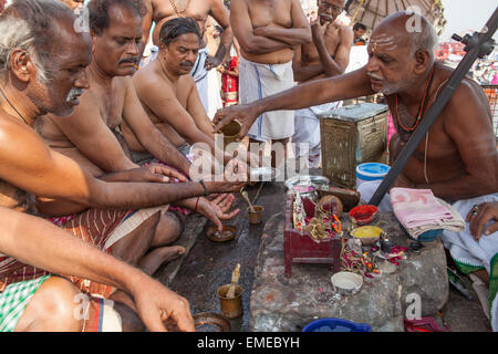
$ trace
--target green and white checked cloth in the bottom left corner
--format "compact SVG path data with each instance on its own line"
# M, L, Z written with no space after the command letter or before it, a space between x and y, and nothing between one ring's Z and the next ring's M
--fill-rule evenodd
M50 275L44 275L34 280L21 281L7 287L0 293L0 332L15 330L31 298L49 278Z

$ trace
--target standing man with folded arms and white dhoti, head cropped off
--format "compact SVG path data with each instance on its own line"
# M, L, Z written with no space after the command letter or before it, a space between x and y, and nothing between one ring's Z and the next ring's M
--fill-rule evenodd
M230 24L241 52L240 103L258 101L294 85L293 50L311 40L310 25L298 0L271 0L264 4L234 0ZM262 114L249 138L250 143L270 140L287 146L293 134L294 113L280 111ZM271 165L276 166L274 150Z

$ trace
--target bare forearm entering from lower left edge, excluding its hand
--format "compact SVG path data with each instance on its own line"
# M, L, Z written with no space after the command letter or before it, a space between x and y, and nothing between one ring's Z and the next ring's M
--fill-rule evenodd
M27 264L111 284L128 293L146 277L41 218L0 208L0 252Z

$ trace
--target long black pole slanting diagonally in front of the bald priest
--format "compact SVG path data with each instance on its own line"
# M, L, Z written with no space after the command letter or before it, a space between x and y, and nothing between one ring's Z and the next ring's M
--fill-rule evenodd
M474 65L476 59L484 58L486 54L489 54L489 52L492 51L492 35L495 34L497 27L498 8L495 10L494 14L486 23L486 27L483 29L481 33L476 32L473 37L466 35L465 39L460 39L465 44L467 44L465 49L467 53L449 76L448 82L440 91L440 94L436 97L436 101L430 106L427 114L421 119L417 129L408 139L405 147L401 150L396 162L391 167L388 174L384 177L377 190L375 190L375 194L372 196L369 204L377 206L381 202L382 198L384 198L385 194L390 190L396 177L405 167L412 154L421 144L422 139L433 125L434 121L439 116L449 98L452 98L455 90L458 87L464 76Z

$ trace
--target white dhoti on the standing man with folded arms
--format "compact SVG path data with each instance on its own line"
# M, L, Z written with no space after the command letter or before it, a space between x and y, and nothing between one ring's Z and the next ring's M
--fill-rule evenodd
M294 74L292 61L284 64L260 64L240 58L239 102L251 103L292 88ZM267 112L249 129L257 140L284 139L294 134L294 111Z

